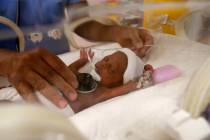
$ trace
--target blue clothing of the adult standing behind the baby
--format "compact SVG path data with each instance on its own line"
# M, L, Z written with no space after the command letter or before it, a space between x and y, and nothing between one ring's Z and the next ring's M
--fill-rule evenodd
M60 54L69 51L63 32L64 6L75 2L79 0L0 0L0 16L9 18L22 29L26 40L25 50L45 47L55 54ZM7 39L0 39L0 48L17 51L15 33L2 24L0 30L3 31L2 34L12 35ZM60 37L49 36L52 31L60 31ZM34 41L34 33L38 34L41 40Z

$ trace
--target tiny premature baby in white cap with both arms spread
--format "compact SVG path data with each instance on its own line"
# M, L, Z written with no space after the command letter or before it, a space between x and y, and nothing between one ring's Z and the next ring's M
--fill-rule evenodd
M110 50L80 50L80 58L69 68L76 74L89 73L98 82L97 89L88 94L79 94L78 100L70 102L75 112L98 102L124 95L137 89L139 77L144 72L144 63L127 48Z

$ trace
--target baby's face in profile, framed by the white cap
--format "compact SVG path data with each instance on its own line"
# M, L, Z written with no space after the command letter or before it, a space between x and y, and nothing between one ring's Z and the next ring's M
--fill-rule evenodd
M96 71L101 76L101 84L110 88L122 85L127 63L127 56L120 51L96 63Z

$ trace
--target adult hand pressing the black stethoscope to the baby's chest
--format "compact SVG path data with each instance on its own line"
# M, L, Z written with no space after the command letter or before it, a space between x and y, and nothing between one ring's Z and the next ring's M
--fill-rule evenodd
M57 56L43 48L13 53L2 63L10 83L26 101L38 101L35 91L60 108L68 104L64 96L71 101L77 98L76 76Z

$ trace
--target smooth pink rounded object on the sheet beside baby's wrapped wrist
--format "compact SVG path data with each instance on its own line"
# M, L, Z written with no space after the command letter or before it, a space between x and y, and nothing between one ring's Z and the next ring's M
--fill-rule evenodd
M154 70L152 80L155 84L179 77L182 72L173 65L165 65Z

